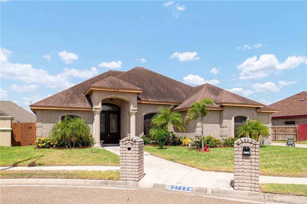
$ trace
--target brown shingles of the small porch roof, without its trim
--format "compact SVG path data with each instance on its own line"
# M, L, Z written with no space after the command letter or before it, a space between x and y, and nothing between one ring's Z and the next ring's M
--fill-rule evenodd
M91 87L106 87L106 88L122 88L122 89L135 89L142 90L139 87L133 86L130 83L124 82L114 76L109 76L106 79L103 79L97 83L91 85Z

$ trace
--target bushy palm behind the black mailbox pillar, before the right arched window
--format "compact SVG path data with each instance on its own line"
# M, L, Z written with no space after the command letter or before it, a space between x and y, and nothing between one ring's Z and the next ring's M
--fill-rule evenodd
M250 137L258 142L259 136L269 137L269 128L262 121L247 120L242 126L237 128L238 137Z

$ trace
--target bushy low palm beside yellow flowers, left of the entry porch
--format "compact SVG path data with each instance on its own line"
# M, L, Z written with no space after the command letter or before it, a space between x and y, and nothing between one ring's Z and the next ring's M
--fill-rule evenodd
M75 148L76 142L88 137L89 134L89 128L83 118L65 116L62 121L57 121L53 126L50 137L54 140L61 139L63 142L67 141L69 148Z

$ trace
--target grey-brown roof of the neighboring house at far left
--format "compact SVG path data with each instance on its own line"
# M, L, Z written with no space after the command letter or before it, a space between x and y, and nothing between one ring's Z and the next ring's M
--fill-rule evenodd
M11 101L0 101L1 114L12 116L18 122L36 122L36 116Z

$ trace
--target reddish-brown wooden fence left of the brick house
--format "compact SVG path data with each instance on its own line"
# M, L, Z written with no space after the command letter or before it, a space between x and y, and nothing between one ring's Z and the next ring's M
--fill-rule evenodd
M11 123L13 146L34 145L36 140L36 123Z

